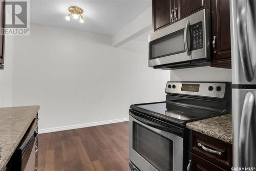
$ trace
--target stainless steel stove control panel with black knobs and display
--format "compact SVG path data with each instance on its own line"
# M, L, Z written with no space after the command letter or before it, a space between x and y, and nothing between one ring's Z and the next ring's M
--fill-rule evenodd
M225 82L167 82L165 93L224 98Z

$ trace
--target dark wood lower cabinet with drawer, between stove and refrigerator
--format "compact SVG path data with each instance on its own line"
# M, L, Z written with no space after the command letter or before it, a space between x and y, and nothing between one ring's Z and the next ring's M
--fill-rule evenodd
M232 144L189 131L190 171L223 171L232 167Z

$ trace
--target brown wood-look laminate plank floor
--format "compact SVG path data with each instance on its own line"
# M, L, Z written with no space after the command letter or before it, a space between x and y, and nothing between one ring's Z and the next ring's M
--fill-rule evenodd
M128 122L40 134L39 171L128 170Z

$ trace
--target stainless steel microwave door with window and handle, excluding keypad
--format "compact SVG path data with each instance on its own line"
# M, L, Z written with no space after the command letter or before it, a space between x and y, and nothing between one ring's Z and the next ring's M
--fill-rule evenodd
M152 33L148 36L148 66L190 61L189 39L189 17Z

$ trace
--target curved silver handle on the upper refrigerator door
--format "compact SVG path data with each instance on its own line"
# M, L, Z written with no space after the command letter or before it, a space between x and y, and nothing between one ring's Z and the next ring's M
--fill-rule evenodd
M245 73L245 78L247 81L252 81L254 77L254 70L251 63L248 34L247 34L247 2L248 0L238 0L237 6L237 30L238 30L238 47L240 58L242 62L242 68Z

